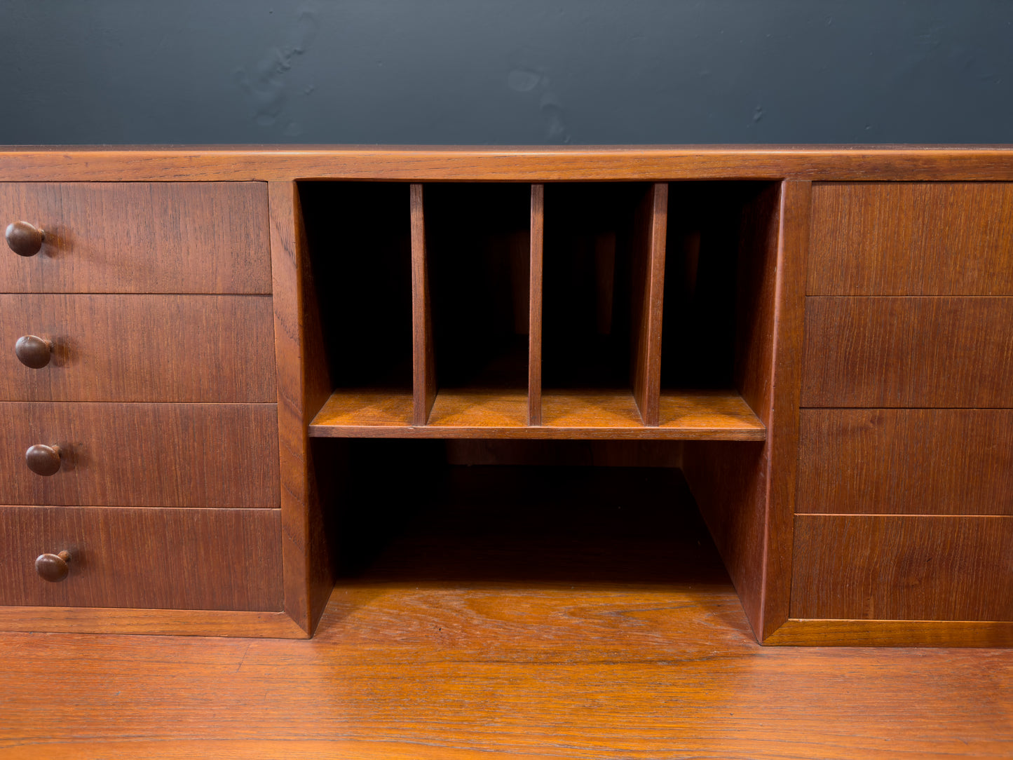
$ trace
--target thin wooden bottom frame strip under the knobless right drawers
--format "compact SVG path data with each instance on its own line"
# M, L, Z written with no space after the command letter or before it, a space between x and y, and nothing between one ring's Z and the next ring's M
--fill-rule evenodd
M762 643L774 647L1013 647L1013 621L789 618Z

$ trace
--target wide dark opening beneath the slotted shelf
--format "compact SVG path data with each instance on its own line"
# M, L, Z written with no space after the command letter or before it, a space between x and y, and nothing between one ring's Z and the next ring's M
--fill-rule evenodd
M677 466L680 446L316 442L315 458L340 461L345 475L330 505L338 584L461 593L603 585L706 592L711 584L726 586L724 566ZM391 478L392 471L403 476Z

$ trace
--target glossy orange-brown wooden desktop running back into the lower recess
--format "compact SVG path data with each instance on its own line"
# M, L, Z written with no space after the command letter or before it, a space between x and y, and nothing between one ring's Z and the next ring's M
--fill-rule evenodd
M310 641L2 635L0 757L1009 756L1013 651L760 647L665 483L654 506L564 479L520 514L434 515L339 582Z

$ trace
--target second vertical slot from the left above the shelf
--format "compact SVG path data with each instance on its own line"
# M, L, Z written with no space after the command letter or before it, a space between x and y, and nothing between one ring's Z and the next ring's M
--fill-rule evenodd
M528 417L530 184L412 185L415 425Z

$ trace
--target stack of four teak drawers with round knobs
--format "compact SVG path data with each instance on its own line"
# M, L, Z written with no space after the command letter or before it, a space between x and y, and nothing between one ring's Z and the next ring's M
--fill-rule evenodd
M265 183L0 183L0 605L281 610Z

